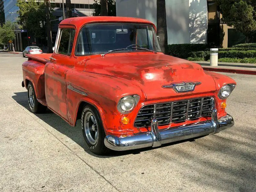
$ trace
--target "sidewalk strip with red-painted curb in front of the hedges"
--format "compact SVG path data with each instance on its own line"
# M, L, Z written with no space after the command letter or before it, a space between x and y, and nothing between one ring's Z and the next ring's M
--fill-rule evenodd
M254 63L219 62L218 66L210 66L210 62L207 62L207 61L193 61L193 62L202 65L202 67L206 71L256 75L256 64Z

